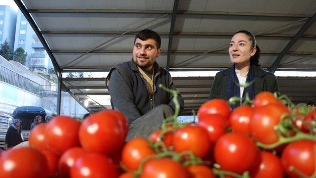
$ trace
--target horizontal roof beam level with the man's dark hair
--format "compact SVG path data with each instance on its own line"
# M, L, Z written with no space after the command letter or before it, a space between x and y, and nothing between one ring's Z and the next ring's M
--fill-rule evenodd
M104 30L52 30L40 31L43 35L119 35L124 33L123 31L104 31ZM125 35L135 35L137 31L131 31ZM157 32L160 36L167 36L170 32ZM229 32L173 32L174 36L219 36L219 37L232 37L234 33ZM271 38L293 38L293 35L289 34L260 34L256 38L271 37ZM302 35L301 38L316 38L316 35Z

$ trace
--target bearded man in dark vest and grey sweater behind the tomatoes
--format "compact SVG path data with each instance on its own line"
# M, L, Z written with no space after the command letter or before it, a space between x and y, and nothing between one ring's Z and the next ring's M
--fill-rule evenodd
M114 66L107 76L112 107L122 112L129 123L126 140L135 136L148 137L174 114L173 95L158 85L175 89L168 71L158 66L161 53L159 35L142 30L135 36L133 58ZM180 112L184 101L178 96Z

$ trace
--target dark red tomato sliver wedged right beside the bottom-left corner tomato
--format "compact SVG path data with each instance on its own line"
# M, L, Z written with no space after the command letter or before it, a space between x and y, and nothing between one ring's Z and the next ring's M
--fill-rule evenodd
M59 156L49 150L42 150L41 153L46 158L46 161L48 164L49 177L57 178L57 165L58 165Z

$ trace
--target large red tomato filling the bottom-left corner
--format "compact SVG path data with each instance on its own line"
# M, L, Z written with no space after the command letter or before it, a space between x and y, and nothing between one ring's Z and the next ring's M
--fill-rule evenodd
M47 178L44 155L31 147L10 149L0 157L0 178Z

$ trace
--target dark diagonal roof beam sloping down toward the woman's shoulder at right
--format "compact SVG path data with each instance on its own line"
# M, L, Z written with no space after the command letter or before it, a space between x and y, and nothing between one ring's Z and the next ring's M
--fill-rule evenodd
M290 48L295 44L295 42L305 33L305 31L310 28L313 23L316 21L316 13L303 25L303 27L296 33L292 40L284 47L282 52L277 56L276 60L273 62L269 71L272 73L276 72L276 68L279 65L282 58L290 50Z

